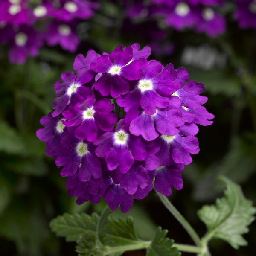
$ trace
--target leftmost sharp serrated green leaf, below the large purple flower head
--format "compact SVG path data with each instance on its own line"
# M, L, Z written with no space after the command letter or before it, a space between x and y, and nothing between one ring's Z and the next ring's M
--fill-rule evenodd
M64 213L50 222L50 227L57 236L65 236L66 241L77 241L84 233L96 235L96 227L99 215L93 213L92 216L86 213L74 214Z

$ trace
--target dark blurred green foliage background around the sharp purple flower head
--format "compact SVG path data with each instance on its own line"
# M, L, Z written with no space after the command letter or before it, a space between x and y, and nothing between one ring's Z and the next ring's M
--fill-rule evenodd
M100 213L105 206L104 201L99 205L77 206L76 198L67 195L66 178L59 175L54 160L44 154L44 143L35 136L35 131L42 128L40 118L52 110L53 85L60 81L61 73L73 71L75 56L86 55L89 49L102 54L113 51L119 44L123 47L134 42L141 47L149 44L155 47L149 59L157 59L163 65L173 63L175 68L185 67L191 80L204 83L206 89L202 95L209 98L205 107L215 115L214 123L199 125L200 152L192 156L193 163L182 171L183 189L173 189L169 198L199 236L205 234L206 227L196 212L223 195L219 175L241 184L245 197L256 205L256 32L239 29L232 12L227 12L226 33L209 38L189 29L177 32L163 26L161 20L130 20L125 17L122 1L99 2L101 9L79 28L82 44L74 54L58 46L44 47L38 57L29 58L19 66L9 64L7 46L0 45L1 255L77 255L75 243L57 238L49 229L49 221L64 212ZM162 34L157 37L157 33ZM165 46L172 50L163 50ZM188 61L189 49L205 52ZM208 67L205 63L212 54L218 58ZM120 212L114 214L124 217ZM168 236L175 242L193 244L154 191L143 200L135 200L126 215L133 216L143 239L151 239L160 225L169 230ZM255 255L256 222L249 228L250 233L244 235L248 247L235 250L224 241L213 240L209 245L212 255ZM145 252L125 255L145 255Z

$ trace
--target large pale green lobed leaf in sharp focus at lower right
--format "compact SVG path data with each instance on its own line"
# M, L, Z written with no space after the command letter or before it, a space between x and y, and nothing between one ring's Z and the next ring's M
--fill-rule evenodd
M198 216L208 229L205 239L222 239L238 249L247 245L241 235L249 231L247 226L255 219L256 208L244 198L239 185L224 176L221 176L221 180L227 185L224 197L218 198L216 205L202 207Z

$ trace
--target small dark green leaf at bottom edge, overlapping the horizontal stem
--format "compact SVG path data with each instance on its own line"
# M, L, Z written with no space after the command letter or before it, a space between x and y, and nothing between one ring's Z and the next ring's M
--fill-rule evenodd
M177 247L172 247L173 240L166 237L168 230L162 230L161 227L157 228L157 233L148 247L147 256L180 256L181 253Z

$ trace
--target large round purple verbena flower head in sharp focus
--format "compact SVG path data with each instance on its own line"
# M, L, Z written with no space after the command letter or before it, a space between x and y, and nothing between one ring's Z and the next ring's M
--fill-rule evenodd
M199 152L198 126L214 116L202 105L204 85L172 64L147 58L151 48L135 43L111 54L79 54L76 74L55 84L54 112L44 116L37 137L45 153L64 166L70 196L77 204L100 198L128 212L134 198L154 187L163 195L182 189L180 171ZM114 102L114 104L113 104Z

